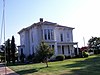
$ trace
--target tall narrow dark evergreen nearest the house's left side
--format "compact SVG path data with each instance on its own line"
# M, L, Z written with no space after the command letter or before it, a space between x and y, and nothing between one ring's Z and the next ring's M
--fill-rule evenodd
M12 36L11 53L12 53L12 63L13 64L15 64L15 52L16 52L15 38L14 38L14 36Z

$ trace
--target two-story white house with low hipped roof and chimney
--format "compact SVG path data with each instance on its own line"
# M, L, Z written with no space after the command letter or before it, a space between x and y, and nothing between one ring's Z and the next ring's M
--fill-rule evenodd
M66 56L74 56L78 54L75 51L73 42L72 27L62 26L57 23L43 21L34 23L27 28L23 28L18 33L20 35L20 46L18 46L19 55L23 52L26 56L36 52L37 46L44 41L54 49L55 55L64 54Z

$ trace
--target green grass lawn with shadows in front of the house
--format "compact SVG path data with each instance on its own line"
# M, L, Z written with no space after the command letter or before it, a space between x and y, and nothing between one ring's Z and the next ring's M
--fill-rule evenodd
M64 61L8 66L20 75L100 75L100 55Z

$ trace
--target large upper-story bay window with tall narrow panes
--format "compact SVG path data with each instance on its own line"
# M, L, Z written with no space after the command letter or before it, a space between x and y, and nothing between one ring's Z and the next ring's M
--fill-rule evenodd
M53 29L44 29L44 39L45 40L54 40Z

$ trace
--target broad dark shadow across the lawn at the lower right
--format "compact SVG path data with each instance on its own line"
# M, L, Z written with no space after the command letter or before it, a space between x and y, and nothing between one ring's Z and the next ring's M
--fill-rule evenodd
M100 55L84 61L76 61L74 64L63 65L63 67L69 68L72 74L61 75L100 75Z

